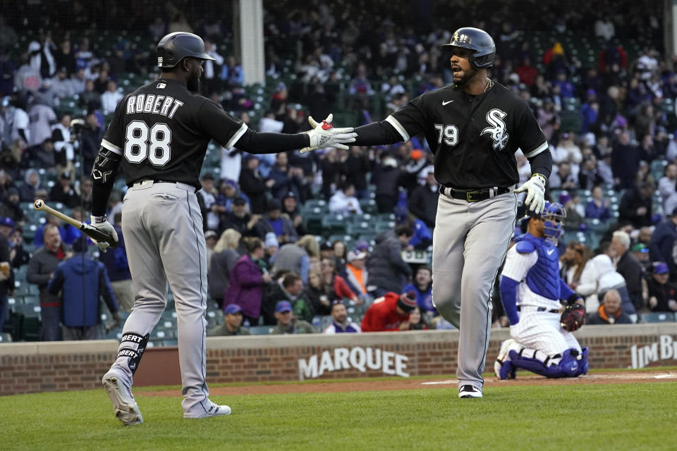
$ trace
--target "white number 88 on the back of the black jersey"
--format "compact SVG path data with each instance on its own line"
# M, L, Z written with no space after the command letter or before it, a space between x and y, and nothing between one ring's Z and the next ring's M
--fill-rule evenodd
M171 156L171 130L165 123L155 123L148 130L144 121L132 121L125 133L125 158L141 163L146 158L154 166L164 166Z

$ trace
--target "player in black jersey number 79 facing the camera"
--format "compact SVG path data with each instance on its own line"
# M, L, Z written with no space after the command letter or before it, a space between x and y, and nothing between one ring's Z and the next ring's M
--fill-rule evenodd
M552 157L527 103L487 78L496 54L492 37L465 27L442 47L451 53L453 86L422 94L385 121L355 128L354 145L425 134L442 194L433 234L433 302L461 332L459 397L482 397L489 294L515 224L514 193L527 192L527 206L541 211ZM514 190L518 149L529 159L532 178Z

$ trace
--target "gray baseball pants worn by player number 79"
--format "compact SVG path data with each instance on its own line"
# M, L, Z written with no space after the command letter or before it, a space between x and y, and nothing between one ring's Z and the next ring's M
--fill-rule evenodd
M440 194L432 237L432 299L460 331L458 387L482 389L492 327L490 294L515 228L512 189L491 199L466 202Z

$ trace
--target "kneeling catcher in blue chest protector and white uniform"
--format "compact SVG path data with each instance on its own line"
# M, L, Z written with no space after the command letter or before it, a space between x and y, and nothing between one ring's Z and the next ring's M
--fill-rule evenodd
M587 348L571 333L585 323L585 305L559 276L556 246L565 217L561 204L546 202L506 255L500 290L511 338L494 364L498 378L514 378L518 368L549 378L587 373Z

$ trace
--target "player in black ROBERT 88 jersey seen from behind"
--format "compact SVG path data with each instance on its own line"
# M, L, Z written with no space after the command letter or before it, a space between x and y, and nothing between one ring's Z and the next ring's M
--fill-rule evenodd
M178 352L183 383L183 416L231 413L209 400L205 381L207 260L202 216L195 191L207 144L214 139L252 154L340 147L353 142L352 128L331 127L331 115L310 132L257 133L225 113L199 91L202 61L213 59L191 33L166 35L157 46L158 80L118 104L92 168L92 225L117 235L106 221L106 203L118 166L129 187L123 200L122 230L132 273L135 304L118 348L102 379L123 424L142 423L131 393L149 334L166 306L167 287L178 315ZM109 245L99 242L105 252Z

